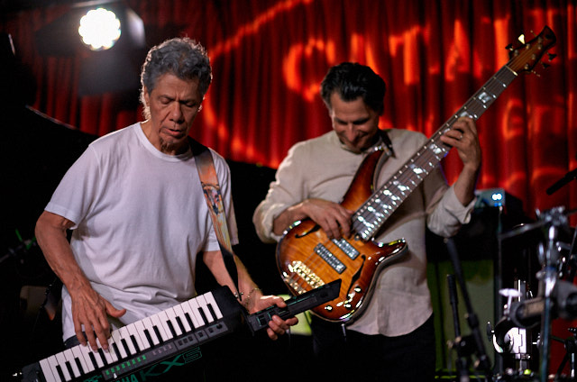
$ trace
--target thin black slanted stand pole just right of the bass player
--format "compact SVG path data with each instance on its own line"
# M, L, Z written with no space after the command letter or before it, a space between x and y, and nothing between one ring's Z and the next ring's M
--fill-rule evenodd
M461 261L459 260L459 255L457 253L456 246L454 244L453 238L448 238L444 240L449 252L449 257L453 263L453 269L459 286L461 287L461 292L463 294L463 300L467 308L467 314L465 315L469 328L472 331L472 339L474 345L477 349L477 363L476 368L485 371L485 380L489 381L492 378L492 370L490 368L490 360L485 352L485 345L483 344L481 331L479 329L479 317L474 313L471 304L471 298L467 292L467 286L465 285L465 279L463 276L463 268L461 268Z

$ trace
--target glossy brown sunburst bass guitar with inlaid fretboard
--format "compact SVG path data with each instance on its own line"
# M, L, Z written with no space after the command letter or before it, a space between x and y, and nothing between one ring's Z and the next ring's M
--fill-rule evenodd
M293 295L299 295L337 278L339 296L318 305L312 312L331 322L352 322L361 316L371 298L380 271L407 251L404 240L379 243L373 240L398 206L421 184L451 149L440 137L462 116L477 120L522 72L533 72L536 63L555 43L547 26L533 40L517 49L460 109L398 170L373 191L372 179L383 150L375 150L362 162L343 196L343 207L355 211L352 233L341 240L329 239L311 220L293 223L277 246L280 275ZM553 55L549 55L552 59Z

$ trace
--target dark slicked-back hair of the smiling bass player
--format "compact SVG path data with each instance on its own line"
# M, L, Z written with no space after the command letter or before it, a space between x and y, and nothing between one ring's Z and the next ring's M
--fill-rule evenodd
M371 68L356 62L343 62L330 68L321 82L321 96L331 109L331 95L336 92L343 101L362 101L379 115L385 110L385 81Z

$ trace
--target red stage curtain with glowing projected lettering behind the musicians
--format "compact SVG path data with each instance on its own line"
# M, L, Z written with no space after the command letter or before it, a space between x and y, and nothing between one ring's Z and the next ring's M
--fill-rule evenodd
M479 188L503 187L536 208L577 207L577 182L545 189L577 168L575 0L129 0L148 44L188 36L206 46L214 82L192 133L225 158L277 167L289 147L331 129L318 85L343 60L374 68L388 84L381 127L431 135L508 61L505 47L545 25L557 57L540 77L521 75L478 122ZM98 135L141 118L125 95L78 96L82 55L46 58L33 33L64 5L2 16L38 83L34 107ZM459 173L454 153L446 176ZM574 225L574 224L573 224Z

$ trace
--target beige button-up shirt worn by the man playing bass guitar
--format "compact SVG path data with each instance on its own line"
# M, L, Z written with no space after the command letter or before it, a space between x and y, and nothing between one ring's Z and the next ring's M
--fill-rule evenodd
M420 132L386 132L394 154L378 168L376 189L426 142ZM272 232L272 223L291 205L312 197L341 202L362 160L372 151L358 154L347 150L334 132L294 145L280 164L265 200L254 212L252 220L261 240L281 239ZM426 226L438 235L452 236L469 222L473 205L474 200L461 205L440 167L431 171L390 215L375 238L380 242L404 238L408 253L380 272L371 300L364 303L368 304L364 312L347 328L365 334L398 336L425 323L433 313L426 283Z

